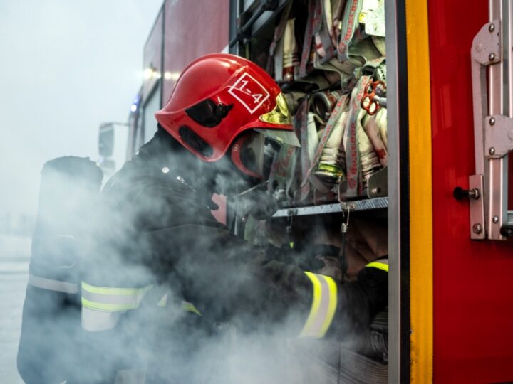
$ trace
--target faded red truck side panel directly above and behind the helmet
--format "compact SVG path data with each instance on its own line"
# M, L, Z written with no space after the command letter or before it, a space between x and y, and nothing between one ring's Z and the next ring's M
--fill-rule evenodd
M228 0L167 0L162 104L185 65L207 53L221 52L228 39Z

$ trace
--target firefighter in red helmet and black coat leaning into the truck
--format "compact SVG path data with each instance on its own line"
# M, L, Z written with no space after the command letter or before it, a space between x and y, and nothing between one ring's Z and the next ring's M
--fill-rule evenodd
M219 357L202 345L223 324L338 339L387 305L386 260L342 285L214 219L213 193L251 196L242 192L265 184L266 143L299 146L264 70L234 55L198 58L155 117L155 137L103 188L103 219L83 247L82 325L98 375L90 383L226 382L201 373Z

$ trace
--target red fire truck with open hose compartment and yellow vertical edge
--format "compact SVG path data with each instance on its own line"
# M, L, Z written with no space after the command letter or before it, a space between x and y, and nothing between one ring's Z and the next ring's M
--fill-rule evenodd
M154 112L199 55L242 55L271 68L284 92L294 88L304 80L297 70L310 11L326 16L330 7L336 42L347 37L348 24L356 35L385 41L386 99L372 95L370 102L388 112L386 173L368 178L364 196L291 203L271 220L285 228L314 216L339 226L346 211L388 218L388 383L511 383L511 1L167 0L144 48L145 80L131 107L127 156L152 137ZM296 41L299 55L287 73L276 60L268 63L290 20L292 36L304 41ZM374 32L367 31L372 20L378 20ZM311 82L317 92L321 86Z

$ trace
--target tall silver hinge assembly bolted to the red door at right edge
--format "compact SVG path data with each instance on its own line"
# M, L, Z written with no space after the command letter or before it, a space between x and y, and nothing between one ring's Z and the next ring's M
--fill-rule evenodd
M490 18L472 42L475 175L469 176L470 238L513 235L507 211L508 154L513 151L513 5L490 1Z

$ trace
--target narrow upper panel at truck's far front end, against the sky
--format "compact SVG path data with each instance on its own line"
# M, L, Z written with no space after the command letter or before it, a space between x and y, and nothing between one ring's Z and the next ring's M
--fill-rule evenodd
M150 36L146 41L144 47L144 54L142 58L142 62L144 65L145 71L148 68L153 70L153 73L145 72L145 79L142 85L142 100L146 99L150 95L155 87L155 84L159 81L160 76L162 75L162 23L164 22L164 14L162 10L159 12L157 16L157 20L153 25L153 28L150 32Z

